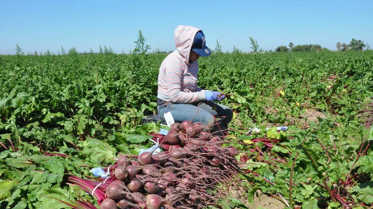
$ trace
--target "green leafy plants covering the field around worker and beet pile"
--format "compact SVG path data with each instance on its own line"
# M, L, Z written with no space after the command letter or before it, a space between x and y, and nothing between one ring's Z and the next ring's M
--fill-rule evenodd
M140 39L145 41L143 36ZM147 50L141 40L139 46ZM236 139L244 140L246 144L235 146L251 157L245 168L260 175L241 176L254 184L247 186L246 198L251 201L261 190L279 193L289 202L289 176L299 152L291 191L295 204L317 208L319 199L329 208L340 207L322 187L323 180L338 189L335 185L346 180L350 170L350 176L356 175L348 192L370 204L372 148L356 159L368 133L360 127L364 106L358 104L372 103L372 52L298 53L297 47L317 48L298 45L293 53L261 53L253 38L250 44L251 54L242 54L234 46L233 54L214 53L198 60L198 86L229 94L221 103L235 113L232 135L254 126L289 126L289 132L263 129L263 134ZM8 149L0 146L1 208L48 207L57 205L49 198L57 196L73 204L77 192L60 184L63 174L91 175L89 168L79 165L110 165L117 152L136 155L150 146L147 133L159 130L154 123L140 122L156 113L157 75L167 54L114 54L106 46L100 46L98 54L79 54L75 48L68 53L0 56L0 142ZM304 128L301 116L310 109L323 112L326 119L300 129ZM286 163L257 160L251 151L254 144L247 142L266 136L280 141L270 151ZM368 136L366 143L372 143ZM263 142L255 145L266 150ZM69 157L45 156L44 151ZM271 161L268 156L264 159ZM225 201L225 208L246 207L233 198Z

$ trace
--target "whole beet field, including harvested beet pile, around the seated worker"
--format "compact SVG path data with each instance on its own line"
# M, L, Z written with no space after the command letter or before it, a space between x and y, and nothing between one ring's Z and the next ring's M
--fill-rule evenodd
M0 55L0 208L373 208L373 51L200 58L228 128L142 123L166 56Z

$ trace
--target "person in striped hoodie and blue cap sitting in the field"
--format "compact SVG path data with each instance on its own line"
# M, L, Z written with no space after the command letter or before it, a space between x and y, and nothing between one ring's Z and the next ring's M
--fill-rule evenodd
M175 122L189 120L213 125L213 116L227 116L228 123L233 118L232 110L215 103L220 92L203 90L197 86L198 58L207 57L211 50L206 46L202 30L191 26L175 29L176 51L162 62L158 75L157 105L159 116L171 112Z

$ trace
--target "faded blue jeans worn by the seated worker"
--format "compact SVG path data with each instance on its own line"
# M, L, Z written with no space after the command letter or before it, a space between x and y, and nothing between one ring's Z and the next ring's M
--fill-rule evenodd
M192 123L202 122L208 126L215 123L213 116L227 116L228 123L233 118L233 111L229 107L207 101L190 104L166 102L158 106L159 116L163 120L164 113L167 112L171 112L173 120L177 123L189 120Z

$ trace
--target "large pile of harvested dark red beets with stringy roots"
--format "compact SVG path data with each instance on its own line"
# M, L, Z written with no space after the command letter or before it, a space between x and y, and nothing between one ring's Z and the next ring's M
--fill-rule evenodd
M234 147L202 123L173 123L165 151L118 158L101 209L205 208L226 195L239 170Z

